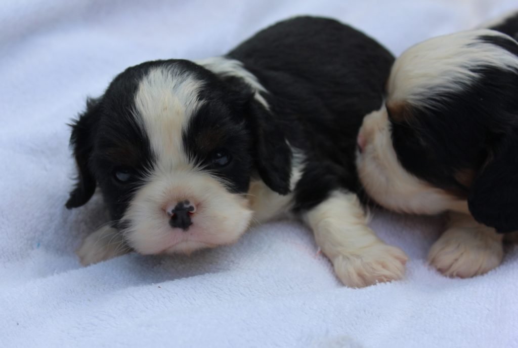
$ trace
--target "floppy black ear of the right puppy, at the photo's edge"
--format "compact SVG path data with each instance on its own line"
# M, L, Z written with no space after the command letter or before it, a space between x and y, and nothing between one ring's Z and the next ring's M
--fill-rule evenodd
M518 231L518 135L502 136L468 196L471 215L498 232Z

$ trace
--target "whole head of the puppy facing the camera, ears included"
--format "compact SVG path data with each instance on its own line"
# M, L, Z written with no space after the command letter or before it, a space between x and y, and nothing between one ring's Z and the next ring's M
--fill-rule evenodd
M232 243L252 216L255 173L289 191L291 152L269 117L242 78L184 60L128 68L73 126L79 176L67 207L98 185L141 254Z

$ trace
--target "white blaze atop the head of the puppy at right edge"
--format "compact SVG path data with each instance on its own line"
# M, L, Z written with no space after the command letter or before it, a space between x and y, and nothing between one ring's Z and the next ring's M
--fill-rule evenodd
M505 34L481 29L438 36L407 49L392 66L387 101L430 103L426 100L430 94L461 91L476 81L480 73L473 69L518 69L516 55L481 40L481 36L511 40Z

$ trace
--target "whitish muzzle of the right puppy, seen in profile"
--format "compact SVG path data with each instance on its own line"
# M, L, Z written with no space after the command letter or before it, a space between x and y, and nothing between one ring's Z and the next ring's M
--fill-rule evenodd
M356 153L356 167L365 190L376 202L401 213L468 211L466 201L423 182L401 166L392 146L384 106L365 116L359 132L365 139L365 147L362 153Z

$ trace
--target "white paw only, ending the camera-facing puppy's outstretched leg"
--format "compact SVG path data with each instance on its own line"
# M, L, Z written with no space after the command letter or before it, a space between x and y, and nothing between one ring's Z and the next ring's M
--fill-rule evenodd
M332 262L344 285L359 288L401 279L405 275L407 260L401 249L379 242L341 253Z

